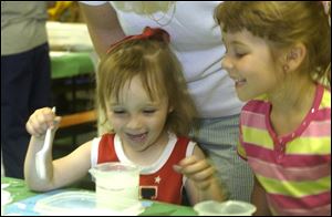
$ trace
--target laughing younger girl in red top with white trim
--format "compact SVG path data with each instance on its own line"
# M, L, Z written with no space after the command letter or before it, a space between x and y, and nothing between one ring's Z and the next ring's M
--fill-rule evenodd
M46 128L55 131L60 117L49 107L30 116L24 175L31 189L70 185L96 164L129 162L141 167L141 196L148 190L147 199L180 204L183 186L191 204L222 199L214 168L198 145L185 137L196 110L168 42L164 30L146 28L111 46L98 69L97 101L114 133L53 162L49 152L45 180L38 177L34 158Z

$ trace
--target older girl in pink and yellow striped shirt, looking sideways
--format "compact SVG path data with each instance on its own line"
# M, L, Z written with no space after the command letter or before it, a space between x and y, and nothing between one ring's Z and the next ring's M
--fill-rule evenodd
M221 64L249 101L238 153L256 174L257 215L330 216L331 28L323 4L226 1L215 16L227 48Z

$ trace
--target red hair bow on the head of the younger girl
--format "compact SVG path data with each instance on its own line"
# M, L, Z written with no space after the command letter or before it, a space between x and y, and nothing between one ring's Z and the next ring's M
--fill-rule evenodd
M114 48L122 44L123 42L132 41L132 40L144 40L144 39L154 39L154 40L164 41L167 43L169 43L169 41L170 41L169 34L165 30L163 30L160 28L146 27L146 28L144 28L142 34L128 35L128 37L125 37L124 39L113 43L106 53L108 54Z

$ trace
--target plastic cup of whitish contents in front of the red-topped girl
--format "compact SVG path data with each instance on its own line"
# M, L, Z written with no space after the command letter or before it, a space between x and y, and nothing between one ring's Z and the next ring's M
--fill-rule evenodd
M124 210L137 206L139 168L123 163L104 163L89 170L95 177L96 206Z

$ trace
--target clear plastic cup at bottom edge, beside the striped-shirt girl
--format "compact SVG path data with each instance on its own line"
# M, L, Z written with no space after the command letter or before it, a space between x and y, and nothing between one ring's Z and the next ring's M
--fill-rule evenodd
M251 216L256 211L252 204L239 200L224 203L206 200L194 206L199 216Z

